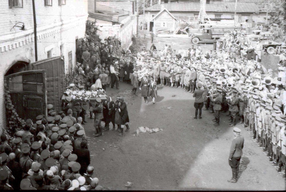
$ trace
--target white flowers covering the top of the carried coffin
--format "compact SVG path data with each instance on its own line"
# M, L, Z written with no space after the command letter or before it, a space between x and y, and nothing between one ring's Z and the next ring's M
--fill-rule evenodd
M65 91L73 100L79 99L82 101L89 101L92 98L106 97L106 92L104 89L99 89L96 91L86 91L86 90L70 90Z

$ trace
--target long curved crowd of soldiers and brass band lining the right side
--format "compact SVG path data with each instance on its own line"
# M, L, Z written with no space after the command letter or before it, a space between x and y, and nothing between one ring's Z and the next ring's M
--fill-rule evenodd
M200 52L196 48L190 50ZM225 57L207 61L204 55L196 54L188 59L190 50L181 55L162 48L158 54L151 48L136 60L134 76L140 80L147 75L162 86L191 93L197 84L204 85L203 110L214 113L214 126L219 126L220 112L227 112L229 126L243 124L277 171L284 170L285 177L285 62L278 64L278 76L274 76L272 69L267 70L254 59Z

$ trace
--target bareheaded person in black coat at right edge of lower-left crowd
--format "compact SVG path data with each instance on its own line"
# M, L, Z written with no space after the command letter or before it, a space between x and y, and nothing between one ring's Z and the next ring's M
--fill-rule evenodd
M87 140L82 140L80 144L80 149L75 150L75 154L78 156L77 162L80 163L80 174L86 173L87 167L90 164L90 151L86 149L88 142Z

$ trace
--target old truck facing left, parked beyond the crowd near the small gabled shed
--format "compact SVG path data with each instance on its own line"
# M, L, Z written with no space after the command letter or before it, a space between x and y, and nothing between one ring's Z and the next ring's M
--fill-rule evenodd
M204 28L199 29L198 33L189 32L193 44L213 43L214 39L223 37L226 33L231 33L231 28ZM233 28L232 28L233 29Z

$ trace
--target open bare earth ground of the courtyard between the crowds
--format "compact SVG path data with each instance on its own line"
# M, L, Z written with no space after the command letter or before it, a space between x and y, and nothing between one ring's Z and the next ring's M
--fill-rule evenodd
M247 130L237 125L245 138L237 183L229 183L228 155L233 130L222 113L219 127L213 114L194 116L194 98L179 88L158 87L156 103L143 102L132 86L120 83L120 90L107 88L116 99L127 103L130 130L104 131L94 137L93 119L87 118L85 131L91 165L99 184L110 190L285 190L285 179L269 163L269 158L253 142ZM136 134L138 127L162 129ZM127 182L131 182L132 184Z

